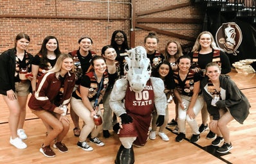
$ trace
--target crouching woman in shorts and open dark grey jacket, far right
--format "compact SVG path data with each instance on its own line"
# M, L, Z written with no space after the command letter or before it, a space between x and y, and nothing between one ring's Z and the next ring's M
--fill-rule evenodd
M217 63L208 63L205 69L206 77L201 81L201 90L212 117L210 130L217 135L212 145L218 146L224 140L216 151L226 153L232 149L227 124L233 119L242 124L249 115L250 103L232 79L221 74Z

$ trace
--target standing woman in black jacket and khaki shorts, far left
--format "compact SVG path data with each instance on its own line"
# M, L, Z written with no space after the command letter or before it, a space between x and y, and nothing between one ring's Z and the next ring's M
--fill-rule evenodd
M26 102L30 94L32 54L26 52L30 37L19 33L15 46L0 55L0 94L10 111L10 143L17 149L27 147L22 140L28 138L23 126L26 118Z

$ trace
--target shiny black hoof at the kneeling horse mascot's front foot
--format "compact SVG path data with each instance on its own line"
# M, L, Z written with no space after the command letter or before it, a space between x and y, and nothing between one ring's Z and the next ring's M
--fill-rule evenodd
M116 154L115 164L133 164L134 163L134 152L133 147L125 149L123 145L120 146L119 151Z

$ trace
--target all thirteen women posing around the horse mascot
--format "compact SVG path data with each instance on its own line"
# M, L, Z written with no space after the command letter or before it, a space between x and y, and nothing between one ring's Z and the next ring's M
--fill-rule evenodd
M70 121L66 116L69 102L75 126L73 133L79 136L77 146L92 151L87 138L89 142L103 146L98 133L103 129L104 137L108 138L109 130L116 122L116 116L109 107L109 95L116 79L125 76L124 56L129 49L125 33L114 31L111 45L102 48L101 56L91 51L93 40L89 37L81 37L78 50L67 54L60 52L59 42L53 36L44 38L41 50L35 56L26 52L29 42L28 35L19 33L15 38L15 47L0 55L0 94L10 111L10 143L18 149L27 147L23 142L28 138L23 126L26 102L32 93L28 106L42 119L47 129L40 148L44 156L56 155L51 149L51 142L60 152L68 152L62 140L69 131ZM217 151L230 151L232 144L227 124L233 119L242 124L248 116L250 104L235 83L222 75L230 72L228 56L217 49L208 31L199 34L190 56L182 54L181 45L175 40L168 42L165 53L161 54L156 51L158 42L158 37L152 32L144 40L152 76L164 81L167 102L174 101L176 104L176 118L172 120L178 122L176 141L181 142L185 138L185 124L188 122L192 128L190 142L197 142L200 133L208 126L210 113L209 127L214 134L212 138L215 138L212 145L220 145L224 140ZM104 113L100 110L101 103L104 104ZM203 124L198 127L196 116L200 111ZM158 132L158 115L152 113L149 134L152 140L158 134L162 140L169 141L163 132L169 120L168 112L167 106L165 123ZM98 115L103 118L103 124L96 118ZM83 122L82 129L79 118Z

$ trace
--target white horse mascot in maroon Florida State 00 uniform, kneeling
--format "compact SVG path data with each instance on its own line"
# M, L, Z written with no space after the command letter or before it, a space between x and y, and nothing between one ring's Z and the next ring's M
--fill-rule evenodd
M164 121L167 98L160 78L151 77L151 64L144 47L127 51L125 78L113 86L109 105L121 122L113 129L122 143L116 154L116 164L134 163L133 145L142 147L149 138L152 111L158 113L157 125Z

